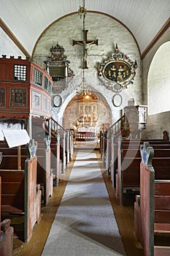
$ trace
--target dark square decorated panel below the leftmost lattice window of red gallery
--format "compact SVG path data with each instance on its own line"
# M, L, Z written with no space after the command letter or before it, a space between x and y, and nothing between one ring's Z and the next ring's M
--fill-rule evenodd
M10 107L27 108L27 89L11 88Z

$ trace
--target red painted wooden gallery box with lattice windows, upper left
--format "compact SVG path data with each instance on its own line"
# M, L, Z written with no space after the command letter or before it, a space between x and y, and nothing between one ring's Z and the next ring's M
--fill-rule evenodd
M25 80L16 78L14 65L26 66ZM42 73L42 85L35 83L35 70ZM45 80L48 81L49 87L45 85ZM50 84L53 85L53 80L38 64L28 58L15 59L14 56L10 56L7 59L3 56L0 58L0 84L1 118L28 118L30 114L50 117Z

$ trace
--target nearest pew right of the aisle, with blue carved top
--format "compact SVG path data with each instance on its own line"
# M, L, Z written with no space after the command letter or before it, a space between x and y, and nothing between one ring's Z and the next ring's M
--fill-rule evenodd
M158 229L161 231L170 222L170 180L155 180L152 158L152 147L146 150L142 149L142 162L140 164L140 214L142 219L141 232L144 256L164 255L164 248L155 246L155 223L157 223ZM170 252L170 247L166 248L166 252Z

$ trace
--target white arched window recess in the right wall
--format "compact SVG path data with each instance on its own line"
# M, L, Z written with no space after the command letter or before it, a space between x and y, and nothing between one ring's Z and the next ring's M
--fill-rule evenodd
M148 114L170 110L170 42L158 48L150 64L147 80Z

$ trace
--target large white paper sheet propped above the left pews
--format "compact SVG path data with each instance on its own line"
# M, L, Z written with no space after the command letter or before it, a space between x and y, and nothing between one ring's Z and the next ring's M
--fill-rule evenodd
M9 148L25 145L30 141L26 129L3 129L2 132Z

